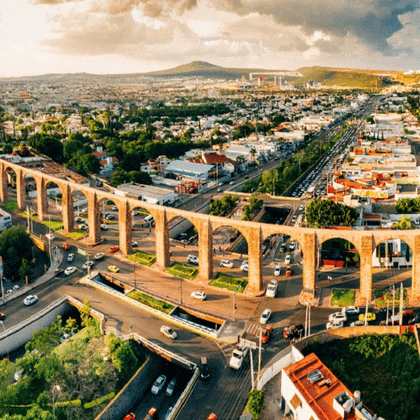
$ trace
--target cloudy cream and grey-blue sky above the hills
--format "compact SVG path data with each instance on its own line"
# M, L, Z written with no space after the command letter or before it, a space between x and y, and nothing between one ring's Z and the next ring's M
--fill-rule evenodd
M0 0L0 77L420 69L418 0Z

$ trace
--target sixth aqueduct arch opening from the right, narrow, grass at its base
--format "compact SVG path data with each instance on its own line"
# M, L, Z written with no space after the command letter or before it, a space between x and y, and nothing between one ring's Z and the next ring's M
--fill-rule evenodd
M137 206L131 210L131 221L131 259L150 267L156 262L155 220L146 208Z

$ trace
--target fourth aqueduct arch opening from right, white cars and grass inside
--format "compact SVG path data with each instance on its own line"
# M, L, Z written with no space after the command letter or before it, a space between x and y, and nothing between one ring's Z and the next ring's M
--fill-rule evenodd
M248 242L229 225L213 231L213 274L211 286L242 293L248 285Z

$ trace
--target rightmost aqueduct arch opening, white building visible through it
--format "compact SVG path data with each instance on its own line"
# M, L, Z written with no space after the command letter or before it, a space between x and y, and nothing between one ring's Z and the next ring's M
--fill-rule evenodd
M393 305L399 296L401 283L404 302L407 302L412 287L413 252L401 239L380 242L372 254L372 291L376 307ZM396 290L396 291L395 291Z

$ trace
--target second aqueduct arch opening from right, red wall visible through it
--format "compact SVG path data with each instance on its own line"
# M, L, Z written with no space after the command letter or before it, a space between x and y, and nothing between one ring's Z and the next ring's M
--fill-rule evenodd
M317 252L316 297L339 307L364 305L360 294L360 254L343 238L322 242Z

